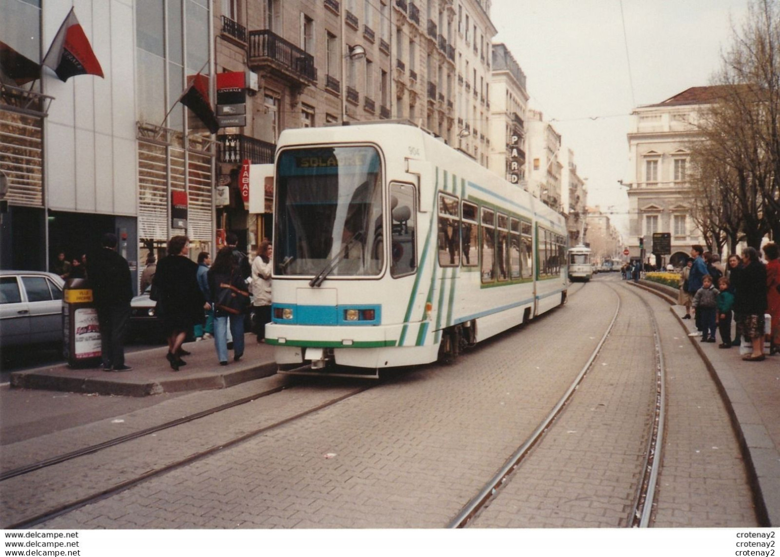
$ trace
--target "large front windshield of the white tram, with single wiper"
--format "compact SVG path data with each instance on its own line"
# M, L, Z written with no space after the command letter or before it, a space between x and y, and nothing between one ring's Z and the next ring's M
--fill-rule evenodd
M374 147L282 151L276 176L276 274L381 272L381 160Z

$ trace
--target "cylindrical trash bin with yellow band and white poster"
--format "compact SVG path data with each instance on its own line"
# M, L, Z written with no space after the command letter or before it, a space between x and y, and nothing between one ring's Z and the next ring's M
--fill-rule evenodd
M63 356L70 367L96 367L101 362L100 325L86 278L71 278L62 296Z

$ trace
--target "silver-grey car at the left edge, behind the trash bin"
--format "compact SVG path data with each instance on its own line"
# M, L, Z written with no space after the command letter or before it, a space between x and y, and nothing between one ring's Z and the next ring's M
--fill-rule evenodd
M0 271L0 346L62 346L65 281L44 271Z

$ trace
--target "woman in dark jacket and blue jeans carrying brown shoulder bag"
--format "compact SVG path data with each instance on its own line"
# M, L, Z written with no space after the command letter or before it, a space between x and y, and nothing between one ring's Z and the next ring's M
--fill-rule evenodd
M233 337L233 361L244 351L244 311L249 305L249 291L233 257L232 247L223 247L207 273L208 289L214 306L214 346L219 364L228 364L228 328Z

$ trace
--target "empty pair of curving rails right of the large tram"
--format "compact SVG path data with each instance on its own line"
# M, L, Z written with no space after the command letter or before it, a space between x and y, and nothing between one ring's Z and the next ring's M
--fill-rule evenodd
M622 310L622 303L618 290L612 286L607 285L612 289L615 295L618 297L618 306L615 309L615 314L612 321L608 325L604 335L600 342L598 342L593 353L590 354L586 364L583 365L582 370L573 379L572 384L566 390L558 403L555 404L551 412L548 414L541 424L534 430L534 432L527 438L523 445L520 445L516 452L512 453L512 456L506 460L505 464L498 470L498 473L494 477L484 484L484 487L475 495L470 502L463 507L461 512L448 524L449 528L462 528L468 527L471 521L477 516L482 509L488 508L491 502L496 497L500 496L502 486L505 482L512 479L515 474L520 474L520 467L523 462L530 456L531 449L534 448L544 435L555 427L555 421L566 411L569 403L573 399L573 395L577 388L580 386L584 378L587 376L590 369L594 366L595 360L599 353L601 353L602 347L607 342L609 336L612 334L612 330L615 326L615 321L618 320ZM649 527L651 525L651 514L654 509L654 494L656 491L658 474L661 465L661 442L664 435L665 428L665 366L663 360L663 352L661 350L661 339L658 332L658 323L651 310L647 300L644 300L636 291L621 287L625 292L631 292L636 296L647 308L647 315L650 316L651 328L653 334L653 349L655 355L654 370L654 397L653 416L651 417L651 431L647 436L647 445L644 451L644 464L642 467L642 473L640 474L640 481L637 484L636 495L633 499L633 505L629 511L629 516L626 520L626 525L629 527ZM580 291L578 289L577 291Z

